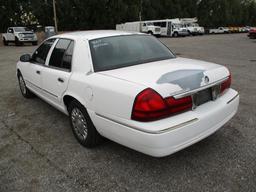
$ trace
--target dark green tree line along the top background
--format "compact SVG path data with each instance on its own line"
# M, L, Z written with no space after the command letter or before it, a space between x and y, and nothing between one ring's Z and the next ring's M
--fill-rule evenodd
M0 30L54 25L52 0L0 0ZM197 17L204 27L256 26L255 0L56 0L62 31L113 29L127 21Z

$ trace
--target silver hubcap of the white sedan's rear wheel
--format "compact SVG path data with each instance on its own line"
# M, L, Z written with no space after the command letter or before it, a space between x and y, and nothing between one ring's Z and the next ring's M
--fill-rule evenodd
M80 140L85 140L87 137L87 122L83 113L78 109L74 108L71 112L71 121L74 127L74 131Z

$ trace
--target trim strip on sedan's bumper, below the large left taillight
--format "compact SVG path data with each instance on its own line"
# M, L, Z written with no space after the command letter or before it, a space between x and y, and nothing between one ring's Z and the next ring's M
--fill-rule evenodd
M174 125L174 126L172 126L172 127L168 127L168 128L166 128L166 129L162 129L162 130L160 130L160 131L150 131L150 130L142 130L141 128L139 128L139 127L137 127L137 126L131 126L131 125L128 125L127 123L123 123L123 122L120 122L120 121L116 121L116 120L114 120L114 119L112 119L112 118L106 117L106 116L101 115L101 114L98 114L98 113L95 113L95 114L96 114L97 116L101 117L101 118L107 119L107 120L112 121L112 122L114 122L114 123L117 123L117 124L126 126L126 127L128 127L128 128L131 128L131 129L135 129L135 130L137 130L137 131L141 131L141 132L144 132L144 133L149 133L149 134L161 134L161 133L166 133L166 132L168 132L168 131L171 131L171 130L174 130L174 129L178 129L178 128L180 128L180 127L186 126L186 125L191 124L191 123L193 123L193 122L195 122L195 121L198 120L198 118L193 118L193 119L191 119L191 120L188 120L188 121L185 121L185 122L183 122L183 123Z

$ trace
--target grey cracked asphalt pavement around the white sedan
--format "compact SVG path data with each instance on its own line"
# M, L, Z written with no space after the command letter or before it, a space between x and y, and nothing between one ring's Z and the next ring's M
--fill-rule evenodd
M229 123L165 158L111 141L86 149L64 114L21 96L16 61L35 47L0 46L0 191L255 191L256 41L246 34L160 40L179 56L229 67L241 99Z

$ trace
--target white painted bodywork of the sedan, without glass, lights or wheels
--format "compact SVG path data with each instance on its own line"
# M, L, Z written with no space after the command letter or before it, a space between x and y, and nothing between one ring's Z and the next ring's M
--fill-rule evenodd
M142 153L161 157L170 155L214 133L236 113L238 93L229 88L219 98L161 120L139 122L131 119L135 97L142 90L152 88L163 98L190 93L178 85L159 84L167 72L203 70L209 82L203 89L220 82L229 75L227 68L198 60L174 58L109 71L94 72L88 41L92 39L134 35L120 31L87 31L67 33L51 38L66 38L75 42L72 70L63 71L48 66L50 49L45 65L17 63L27 87L39 97L68 115L63 98L72 96L88 111L97 131L104 137ZM40 71L40 75L36 74ZM59 83L63 78L64 83Z

